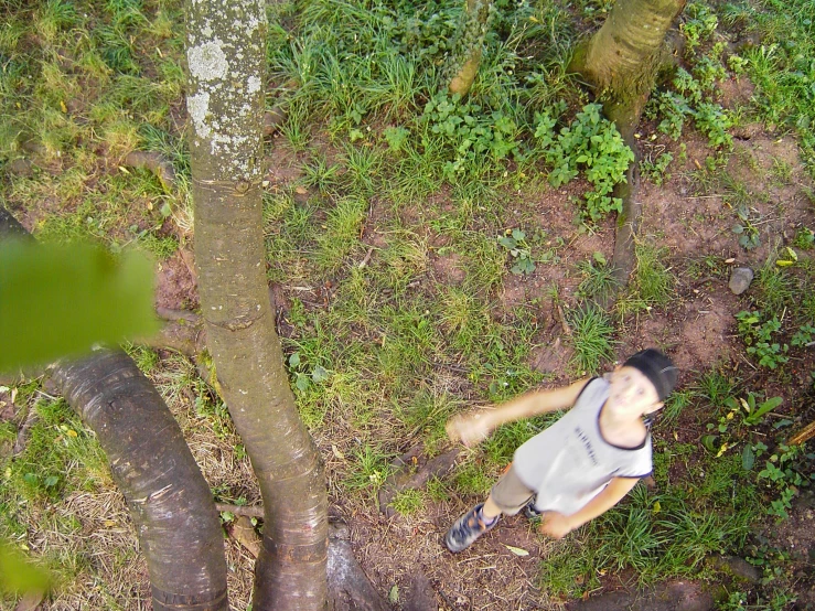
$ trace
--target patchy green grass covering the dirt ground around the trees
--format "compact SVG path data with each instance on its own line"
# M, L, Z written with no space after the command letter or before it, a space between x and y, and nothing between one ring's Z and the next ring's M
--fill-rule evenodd
M575 257L571 228L548 226L544 211L559 194L547 186L550 168L534 137L536 111L559 108L564 100L556 112L562 116L559 129L586 105L586 93L566 67L578 34L599 24L609 7L496 4L483 66L465 100L438 95L461 4L310 0L269 7L267 56L276 88L267 103L287 110L270 142L300 175L264 193L267 277L285 296L279 323L288 375L329 465L333 503L375 513L376 491L406 446L421 444L428 455L446 451L443 426L451 415L510 399L565 373L534 368L533 356L547 347L541 344L560 334L548 308L551 287L560 291L556 301L571 330L564 339L573 350L569 374L601 371L614 360L616 340L634 337L634 325L618 330L598 307L576 306L604 300L614 288L611 269L597 255ZM740 112L797 133L812 172L809 68L798 57L812 55L805 24L812 8L804 0L783 6L762 0L760 8L720 9L720 28L736 26L747 15L738 28L764 36L761 45L740 53L757 85L754 103ZM6 9L0 196L26 215L40 239L93 239L114 250L138 246L159 260L189 245L181 10L176 0L37 0ZM703 42L700 53L715 37ZM167 193L149 172L120 169L131 150L170 160L176 189ZM701 169L691 176L699 192L725 193L732 206L762 196L723 171L726 153L715 160L709 152L710 164L700 159ZM7 171L21 158L33 163L30 175ZM778 183L796 176L780 159L769 175ZM538 269L529 277L511 274L511 257L496 242L516 227L534 236ZM608 236L602 226L596 231ZM800 232L795 243L802 250L806 235ZM630 291L615 309L626 325L630 314L639 320L650 309L664 312L672 306L685 279L667 262L671 255L656 240L637 245ZM725 256L700 253L689 271L698 278L723 276ZM565 261L575 260L580 260L579 287L559 275ZM779 268L771 257L750 292L762 311L780 318L786 311L782 333L815 320L807 265L802 256L796 266ZM564 287L577 288L577 294ZM226 406L195 366L138 346L128 352L182 422L215 496L259 502ZM741 385L723 365L689 374L684 383L663 409L655 432L659 442L695 422L712 421ZM133 569L132 535L104 548L119 551L101 568L88 558L105 555L77 536L88 514L76 510L75 500L86 493L104 497L112 486L98 446L64 404L37 403L36 384L18 390L26 408L41 416L24 454L11 461L0 453L0 473L11 469L0 491L1 533L28 542L32 554L61 571L64 586L55 604L136 604L136 594L100 585ZM501 427L468 452L452 475L432 479L426 491L397 495L393 507L420 516L433 504L452 512L449 504L483 496L515 448L554 417ZM0 427L0 448L13 442L15 427ZM637 487L619 510L553 546L541 569L548 591L593 590L601 571L635 570L644 582L707 577L707 569L694 568L706 554L744 553L746 524L755 517L746 499L758 492L738 460L691 455L667 443L656 463L657 491ZM743 490L732 487L737 480L746 482ZM115 513L127 519L122 507ZM42 553L52 545L49 532L75 545ZM103 591L90 599L97 594L83 583ZM248 603L248 593L233 603Z

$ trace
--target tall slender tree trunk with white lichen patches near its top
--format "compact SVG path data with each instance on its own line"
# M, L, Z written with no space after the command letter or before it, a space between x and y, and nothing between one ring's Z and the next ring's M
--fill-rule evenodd
M265 2L191 0L187 110L201 309L264 499L254 609L326 604L328 495L268 298L261 232Z

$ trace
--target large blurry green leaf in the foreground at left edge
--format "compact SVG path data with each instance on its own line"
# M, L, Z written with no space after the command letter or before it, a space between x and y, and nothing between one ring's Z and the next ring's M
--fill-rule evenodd
M152 262L88 245L0 245L0 371L159 329Z

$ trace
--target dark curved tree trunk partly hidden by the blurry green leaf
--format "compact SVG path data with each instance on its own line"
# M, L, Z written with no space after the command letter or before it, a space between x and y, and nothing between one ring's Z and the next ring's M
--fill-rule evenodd
M32 239L0 207L0 242ZM224 536L212 492L178 422L122 352L54 367L53 380L96 433L147 559L157 611L228 611Z

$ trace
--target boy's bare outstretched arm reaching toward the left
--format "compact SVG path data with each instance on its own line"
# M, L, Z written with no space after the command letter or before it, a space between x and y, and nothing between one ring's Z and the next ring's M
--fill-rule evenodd
M447 435L464 446L475 446L501 425L571 407L588 382L585 378L562 388L526 393L495 407L454 416L447 424Z

